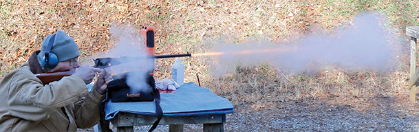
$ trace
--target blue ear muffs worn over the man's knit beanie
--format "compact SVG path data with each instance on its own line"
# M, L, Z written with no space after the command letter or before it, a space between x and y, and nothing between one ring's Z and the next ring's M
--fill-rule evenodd
M47 45L47 49L45 50L45 56L43 56L43 66L44 68L52 69L58 64L58 56L53 52L50 52L52 45L54 45L55 41L55 34L52 35L50 42Z

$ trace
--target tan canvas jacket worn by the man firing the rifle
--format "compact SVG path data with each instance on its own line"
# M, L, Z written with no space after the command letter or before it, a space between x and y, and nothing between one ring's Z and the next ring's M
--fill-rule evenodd
M43 85L34 75L42 71L38 53L0 82L0 131L77 131L97 124L104 96L88 92L75 75Z

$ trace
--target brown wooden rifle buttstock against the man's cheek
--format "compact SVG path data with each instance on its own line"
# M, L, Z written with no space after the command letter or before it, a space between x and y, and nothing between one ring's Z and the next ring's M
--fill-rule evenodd
M35 76L42 81L43 85L47 85L51 82L61 80L64 76L71 76L72 74L74 74L74 71L42 73L36 74Z

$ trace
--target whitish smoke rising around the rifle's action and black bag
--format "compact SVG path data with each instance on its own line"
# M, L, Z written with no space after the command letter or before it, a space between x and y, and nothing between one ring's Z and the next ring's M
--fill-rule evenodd
M112 39L117 40L114 47L109 50L109 56L125 59L120 60L125 63L109 67L112 73L122 74L128 72L127 85L131 88L131 93L149 90L147 89L149 84L147 83L146 76L138 74L138 72L132 72L154 67L154 65L147 65L147 59L130 58L147 56L144 50L144 43L137 28L133 25L117 25L116 23L112 23L109 32L112 35Z

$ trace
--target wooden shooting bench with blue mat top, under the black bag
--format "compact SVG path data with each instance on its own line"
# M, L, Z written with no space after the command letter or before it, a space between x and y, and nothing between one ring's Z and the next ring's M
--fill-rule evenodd
M174 93L160 92L163 117L159 124L169 124L169 131L183 131L183 124L204 124L203 131L224 131L226 113L233 113L233 104L209 89L185 83ZM152 125L155 102L107 102L105 119L117 131L133 131L133 126ZM151 126L150 126L151 127Z

